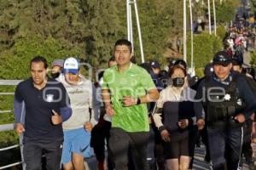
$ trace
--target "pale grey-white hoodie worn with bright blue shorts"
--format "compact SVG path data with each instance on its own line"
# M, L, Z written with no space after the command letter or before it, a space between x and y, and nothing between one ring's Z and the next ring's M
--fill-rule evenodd
M96 102L95 87L90 80L79 75L80 82L76 85L67 83L63 74L56 80L61 82L67 90L70 99L72 116L62 123L63 130L71 130L84 127L85 122L96 125L98 120L100 105ZM90 113L91 109L91 113Z

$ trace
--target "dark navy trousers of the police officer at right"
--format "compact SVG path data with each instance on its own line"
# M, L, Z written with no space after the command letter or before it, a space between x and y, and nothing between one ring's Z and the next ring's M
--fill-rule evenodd
M236 170L240 161L242 128L208 127L207 132L212 169L222 170L226 165L229 170Z

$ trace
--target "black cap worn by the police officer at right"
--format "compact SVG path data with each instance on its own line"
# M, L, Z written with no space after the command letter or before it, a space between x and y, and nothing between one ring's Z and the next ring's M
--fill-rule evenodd
M231 63L231 56L225 51L219 51L212 59L212 65L228 66Z

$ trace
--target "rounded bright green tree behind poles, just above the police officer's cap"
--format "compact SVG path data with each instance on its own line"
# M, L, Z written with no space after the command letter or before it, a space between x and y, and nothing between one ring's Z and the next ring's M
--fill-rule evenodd
M191 56L191 41L188 43L188 63ZM195 68L205 67L212 60L214 54L222 47L222 41L213 34L202 33L194 36L194 63Z

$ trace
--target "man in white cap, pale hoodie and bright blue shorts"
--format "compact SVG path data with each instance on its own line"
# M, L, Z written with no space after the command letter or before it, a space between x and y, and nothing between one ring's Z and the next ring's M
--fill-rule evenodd
M73 57L64 62L63 74L57 78L62 82L70 97L73 110L63 123L64 143L61 163L66 169L84 169L84 157L90 156L90 131L96 125L94 86L79 74L79 61Z

